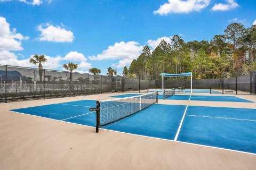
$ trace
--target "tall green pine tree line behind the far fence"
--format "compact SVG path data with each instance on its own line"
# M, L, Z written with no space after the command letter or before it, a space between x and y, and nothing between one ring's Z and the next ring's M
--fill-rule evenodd
M256 25L245 28L231 23L223 35L209 42L185 41L178 35L171 43L162 40L151 52L148 46L133 60L126 77L157 80L160 73L193 72L194 79L221 78L223 72L250 72L256 70ZM181 78L182 79L182 78Z

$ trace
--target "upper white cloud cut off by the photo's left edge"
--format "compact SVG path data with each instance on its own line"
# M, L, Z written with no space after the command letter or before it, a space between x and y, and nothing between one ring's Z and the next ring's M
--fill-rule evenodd
M15 28L10 30L10 24L0 16L0 50L22 50L21 40L26 39Z

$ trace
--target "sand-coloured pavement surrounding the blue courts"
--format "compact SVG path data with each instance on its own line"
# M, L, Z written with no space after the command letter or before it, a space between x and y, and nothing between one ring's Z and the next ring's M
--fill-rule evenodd
M122 93L123 94L123 93ZM115 95L122 95L115 94ZM193 94L207 95L207 94ZM113 94L0 104L0 169L255 169L256 155L141 137L7 111ZM255 95L237 97L255 101ZM159 100L159 104L256 108L256 103Z

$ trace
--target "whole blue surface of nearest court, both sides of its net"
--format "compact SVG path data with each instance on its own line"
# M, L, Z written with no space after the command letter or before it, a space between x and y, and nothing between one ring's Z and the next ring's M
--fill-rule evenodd
M90 107L95 107L94 100L12 111L94 127L96 115ZM188 106L185 111L185 105L155 104L101 128L167 140L176 136L181 142L256 154L256 109Z

